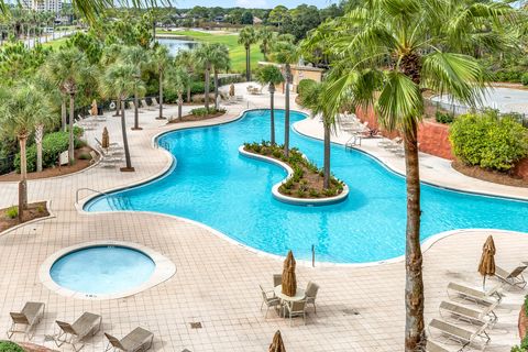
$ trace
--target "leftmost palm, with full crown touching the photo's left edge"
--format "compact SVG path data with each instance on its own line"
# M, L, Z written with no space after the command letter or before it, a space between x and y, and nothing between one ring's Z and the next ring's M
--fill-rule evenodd
M19 182L19 220L22 222L28 209L28 138L35 128L36 121L50 116L46 98L35 85L22 81L14 89L1 94L0 99L0 135L16 136L20 145L20 182ZM6 97L3 97L6 96Z

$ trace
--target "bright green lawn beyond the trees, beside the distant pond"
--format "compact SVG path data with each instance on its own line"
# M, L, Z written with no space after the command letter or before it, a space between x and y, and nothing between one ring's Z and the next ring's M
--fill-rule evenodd
M185 35L190 36L196 41L206 42L206 43L222 43L229 47L229 56L231 57L231 70L234 73L244 73L245 72L245 48L243 45L239 44L239 35L233 34L212 34L204 33L197 31L178 31L178 32L166 32L166 31L156 31L158 34L173 34L173 35ZM251 69L256 68L256 63L264 59L261 50L258 48L258 43L251 46Z

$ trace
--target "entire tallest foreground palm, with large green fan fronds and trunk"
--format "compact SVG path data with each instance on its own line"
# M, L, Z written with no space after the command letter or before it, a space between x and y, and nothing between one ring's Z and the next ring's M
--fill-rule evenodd
M486 75L476 59L463 53L474 53L475 44L482 41L505 43L494 28L509 20L512 12L508 6L493 1L402 0L397 6L365 1L338 18L328 33L314 35L314 44L323 41L339 58L332 63L327 103L336 108L349 96L358 107L372 105L381 124L404 138L407 352L421 350L426 342L417 141L422 91L450 94L474 106Z

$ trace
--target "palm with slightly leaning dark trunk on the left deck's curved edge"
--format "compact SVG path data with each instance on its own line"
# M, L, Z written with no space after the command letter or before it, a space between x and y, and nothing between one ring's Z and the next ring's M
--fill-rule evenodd
M106 97L118 97L118 100L124 101L138 88L135 85L135 77L138 76L138 68L130 64L116 62L107 68L100 81L101 92ZM132 161L130 158L129 140L127 138L127 119L124 117L125 109L121 110L121 133L123 135L125 167L121 167L121 172L134 172Z

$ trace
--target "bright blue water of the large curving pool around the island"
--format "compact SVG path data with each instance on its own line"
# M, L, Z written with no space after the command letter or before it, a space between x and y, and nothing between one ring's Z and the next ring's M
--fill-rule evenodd
M343 202L299 207L279 202L271 188L286 172L239 155L243 142L268 140L270 112L246 112L235 122L160 138L176 158L165 177L99 197L87 211L144 210L202 222L249 246L334 263L387 260L405 252L405 179L371 156L332 145L333 174L350 187ZM292 113L292 123L305 119ZM284 111L276 113L282 142ZM322 142L292 132L292 145L322 165ZM453 229L494 228L528 231L528 202L422 187L421 238ZM174 234L177 235L177 234ZM477 250L477 249L475 249Z

